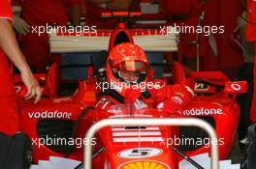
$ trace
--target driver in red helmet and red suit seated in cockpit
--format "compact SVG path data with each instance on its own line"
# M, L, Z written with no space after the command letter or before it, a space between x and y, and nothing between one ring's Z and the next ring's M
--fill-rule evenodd
M155 107L168 113L180 110L193 97L193 91L184 85L167 85L152 78L152 70L144 50L132 43L115 45L107 59L108 89L101 90L95 108L111 109L125 103L135 109Z

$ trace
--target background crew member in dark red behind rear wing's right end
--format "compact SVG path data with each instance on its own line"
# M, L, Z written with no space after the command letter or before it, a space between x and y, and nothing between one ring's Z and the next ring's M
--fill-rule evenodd
M170 24L176 24L180 27L194 27L199 26L199 17L204 11L205 5L208 0L160 0L160 5L169 20ZM206 36L200 35L200 62L204 56L204 45L207 41ZM196 31L181 31L179 34L179 55L182 57L183 63L191 70L197 70L197 51L196 44L197 32Z

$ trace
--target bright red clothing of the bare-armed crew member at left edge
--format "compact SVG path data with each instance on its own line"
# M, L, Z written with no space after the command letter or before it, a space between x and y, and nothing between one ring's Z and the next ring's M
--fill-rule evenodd
M0 18L13 21L10 0L0 0L0 7ZM12 64L0 48L0 132L13 135L18 130L17 112Z

